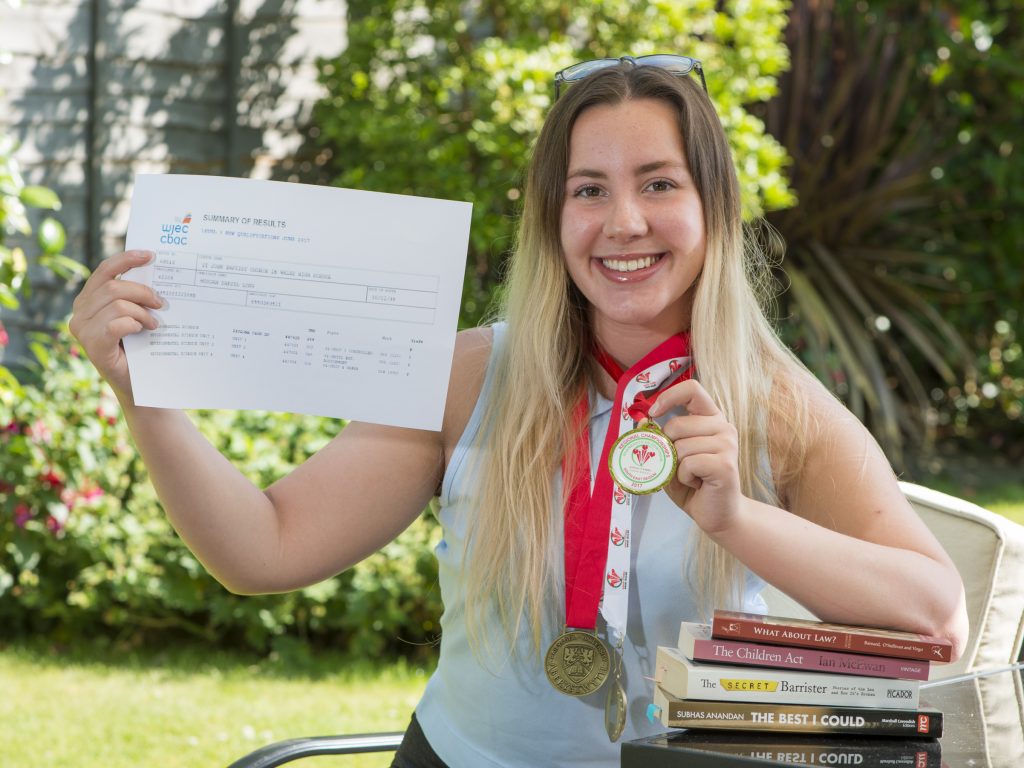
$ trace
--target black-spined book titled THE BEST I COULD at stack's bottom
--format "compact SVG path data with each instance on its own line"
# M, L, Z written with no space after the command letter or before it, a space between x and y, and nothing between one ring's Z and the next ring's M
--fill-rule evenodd
M666 728L905 738L942 735L942 713L938 710L684 700L666 693L660 686L654 686L654 701L647 714Z

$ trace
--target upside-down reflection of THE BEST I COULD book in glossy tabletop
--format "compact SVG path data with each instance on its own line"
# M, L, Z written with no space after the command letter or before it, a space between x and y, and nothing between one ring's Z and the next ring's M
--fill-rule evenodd
M858 768L940 768L932 739L769 735L682 731L623 744L623 768L755 765L855 765Z

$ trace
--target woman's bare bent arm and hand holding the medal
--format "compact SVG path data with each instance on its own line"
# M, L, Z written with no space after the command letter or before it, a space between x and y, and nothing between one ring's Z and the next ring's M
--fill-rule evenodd
M688 413L666 429L680 455L670 493L682 500L692 488L681 506L712 539L823 621L946 637L959 653L968 634L959 573L845 408L816 382L801 383L811 428L802 466L779 486L780 509L739 493L735 429L700 385L675 389L657 407ZM770 424L770 453L793 443L783 422Z

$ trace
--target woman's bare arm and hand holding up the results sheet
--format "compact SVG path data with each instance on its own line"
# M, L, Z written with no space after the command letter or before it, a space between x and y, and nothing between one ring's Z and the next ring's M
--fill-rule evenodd
M458 396L450 397L442 432L351 423L263 492L184 413L133 404L121 339L155 328L147 307L160 306L160 300L150 288L116 278L141 263L137 253L103 262L76 299L71 328L121 401L168 518L218 581L240 593L313 584L371 554L416 519L476 401L489 335L460 335L454 362L459 375L452 377Z

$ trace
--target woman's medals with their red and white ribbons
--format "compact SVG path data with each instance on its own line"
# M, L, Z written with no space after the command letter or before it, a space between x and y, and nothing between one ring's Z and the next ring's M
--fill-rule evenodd
M574 412L580 436L562 462L562 479L568 487L564 523L566 629L545 657L552 685L573 696L598 690L611 670L608 649L595 633L599 608L608 625L609 640L621 648L626 637L634 495L654 493L675 474L676 452L671 440L653 422L640 428L635 423L647 418L662 392L693 373L686 334L668 339L625 372L600 348L595 357L616 382L615 398L593 489L586 396ZM616 662L617 678L622 662ZM608 693L605 718L612 740L625 727L625 692L616 679Z

